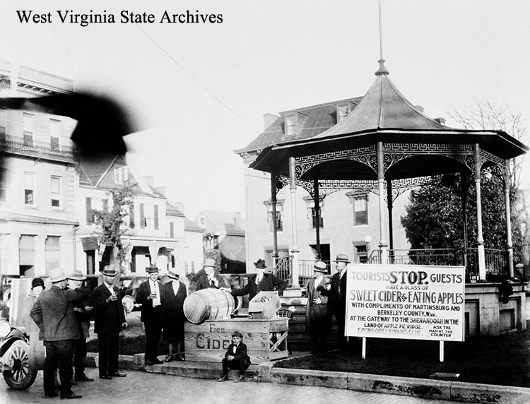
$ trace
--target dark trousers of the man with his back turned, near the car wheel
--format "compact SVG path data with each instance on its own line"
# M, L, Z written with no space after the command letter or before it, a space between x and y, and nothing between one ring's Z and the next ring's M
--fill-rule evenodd
M46 359L44 364L45 396L55 393L55 369L59 369L61 397L71 395L72 355L75 340L45 341Z

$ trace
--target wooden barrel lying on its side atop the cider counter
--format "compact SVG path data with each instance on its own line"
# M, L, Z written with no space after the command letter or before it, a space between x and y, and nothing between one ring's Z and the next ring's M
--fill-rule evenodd
M184 315L194 324L206 320L230 319L234 304L232 295L224 290L213 287L201 289L184 300Z

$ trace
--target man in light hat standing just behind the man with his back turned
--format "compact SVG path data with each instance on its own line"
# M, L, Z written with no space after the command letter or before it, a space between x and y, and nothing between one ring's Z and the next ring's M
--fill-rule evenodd
M81 334L81 338L77 340L76 347L74 347L73 368L75 372L73 373L73 379L75 381L94 381L94 379L90 379L85 374L86 339L90 337L90 312L92 311L92 307L90 307L90 291L83 284L86 276L78 269L69 275L68 280L71 289L78 294L84 306L83 309L81 307L73 308L73 311L76 312L76 321Z

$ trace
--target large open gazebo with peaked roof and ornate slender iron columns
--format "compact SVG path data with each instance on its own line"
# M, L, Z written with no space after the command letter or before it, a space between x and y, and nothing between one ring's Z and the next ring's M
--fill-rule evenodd
M271 201L276 215L276 189L289 184L294 196L302 186L314 198L316 212L326 195L339 189L367 189L379 201L379 251L377 261L395 261L392 248L392 203L399 194L422 184L440 182L459 174L462 188L476 188L476 280L486 280L486 254L481 217L481 178L495 171L505 182L507 268L514 275L510 225L509 162L529 148L497 130L455 129L442 119L431 119L409 102L389 79L384 59L379 60L375 82L348 116L311 138L266 147L250 167L271 174ZM467 180L466 180L467 179ZM292 197L291 203L295 204ZM388 210L388 222L384 220ZM292 211L296 207L292 206ZM465 207L462 209L465 215ZM293 285L298 285L296 218L292 215ZM464 216L464 223L471 218ZM469 243L464 230L464 243ZM273 231L276 249L276 230ZM319 245L317 228L316 242ZM276 252L276 251L275 251ZM465 265L465 263L464 263ZM468 276L468 280L469 280ZM495 292L498 289L495 287ZM471 292L470 292L471 293ZM524 295L524 293L523 293ZM466 299L468 291L466 289ZM480 299L482 300L482 299ZM519 303L524 306L524 304ZM477 308L478 310L478 308ZM524 323L524 308L517 318ZM478 314L477 314L478 315ZM482 314L481 314L482 315ZM526 326L524 323L523 326ZM483 333L481 331L481 333ZM495 331L493 331L495 334Z

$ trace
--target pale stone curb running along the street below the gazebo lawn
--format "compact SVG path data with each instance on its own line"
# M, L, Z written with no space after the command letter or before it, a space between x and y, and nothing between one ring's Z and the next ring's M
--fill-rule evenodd
M294 352L295 356L297 352ZM300 353L298 353L300 356ZM160 357L160 359L163 359ZM120 355L120 369L145 369L149 373L171 374L198 379L217 379L221 376L220 363L178 362L143 366L143 354ZM87 365L97 366L98 355L89 352ZM230 379L236 371L231 370ZM251 364L247 371L249 381L295 384L299 386L322 386L343 388L372 393L399 394L418 398L454 400L464 403L529 404L530 388L472 384L460 381L435 379L412 379L372 374L324 372L306 369L282 369L273 367L273 362Z

